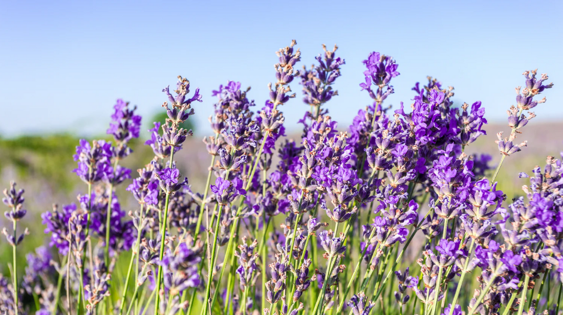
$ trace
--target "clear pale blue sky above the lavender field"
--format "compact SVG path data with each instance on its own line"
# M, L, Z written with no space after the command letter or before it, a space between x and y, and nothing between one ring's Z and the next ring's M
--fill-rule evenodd
M346 65L328 108L341 127L369 103L358 84L372 51L399 63L388 104L410 104L410 88L432 75L455 87L455 100L480 100L490 121L504 120L521 73L537 67L555 83L537 119L562 120L562 3L2 1L0 134L100 133L117 98L149 117L177 75L202 91L195 118L204 134L211 91L240 81L261 106L275 51L291 39L307 66L321 44L339 45ZM292 88L301 94L300 85ZM301 98L284 106L290 129L304 110Z

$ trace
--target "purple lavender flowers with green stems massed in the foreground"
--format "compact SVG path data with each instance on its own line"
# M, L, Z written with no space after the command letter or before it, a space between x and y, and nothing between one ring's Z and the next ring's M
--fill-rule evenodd
M154 158L127 186L136 201L129 218L116 188L131 170L119 162L132 153L141 117L119 100L107 131L113 141L77 146L74 172L86 194L78 206L42 214L52 250L29 255L23 281L16 249L28 231L17 234L17 222L26 211L12 182L3 202L13 229L3 233L13 260L11 280L0 275L0 312L558 314L563 162L548 157L543 170L521 173L529 185L512 202L495 182L504 159L525 147L515 140L535 115L523 112L546 102L537 95L552 87L548 76L524 72L493 172L490 157L465 153L486 134L481 102L455 104L454 89L428 77L415 84L410 110L401 103L391 112L383 103L398 65L372 52L360 84L370 104L339 129L326 104L338 95L345 60L323 45L317 64L297 71L296 44L276 52L276 81L260 110L239 82L212 92L203 191L193 191L175 159L192 135L181 126L202 95L190 94L181 76L175 95L163 89L168 117L148 131ZM282 139L281 109L296 97L296 78L309 110L294 141Z

